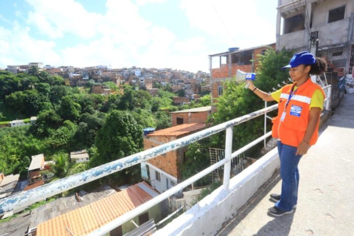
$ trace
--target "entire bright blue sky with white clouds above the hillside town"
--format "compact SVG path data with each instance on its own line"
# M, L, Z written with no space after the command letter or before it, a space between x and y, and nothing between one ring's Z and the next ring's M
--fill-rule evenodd
M276 0L0 0L0 68L208 72L208 55L275 42Z

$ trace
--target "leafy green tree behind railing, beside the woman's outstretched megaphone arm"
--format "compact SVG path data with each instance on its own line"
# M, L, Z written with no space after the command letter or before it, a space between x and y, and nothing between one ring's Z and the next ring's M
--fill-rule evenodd
M291 55L291 52L285 50L276 52L274 49L268 49L264 55L259 55L260 68L256 71L255 86L262 91L270 91L272 87L276 87L278 83L286 80L288 74L281 68L289 62ZM213 113L211 119L214 125L264 108L264 103L251 91L244 88L244 82L238 84L234 79L224 83L224 93L219 97L216 105L217 112ZM233 150L237 150L262 135L263 118L258 117L253 119L251 123L243 123L233 129L233 140L237 140L233 142ZM268 127L269 129L270 127ZM224 146L224 133L212 136L211 140L213 145Z

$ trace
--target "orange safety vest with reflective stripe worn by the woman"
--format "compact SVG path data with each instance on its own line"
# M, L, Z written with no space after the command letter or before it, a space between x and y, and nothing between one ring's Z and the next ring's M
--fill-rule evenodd
M274 138L279 138L281 142L286 145L297 147L303 140L307 129L310 118L310 103L313 93L317 89L322 92L323 97L325 97L325 93L319 85L312 82L309 78L292 93L290 101L285 108L294 85L296 85L296 82L285 85L281 90L278 116L274 117L272 120L272 136ZM281 121L281 116L284 111L285 117ZM319 119L316 129L310 139L310 145L315 144L317 141L318 125Z

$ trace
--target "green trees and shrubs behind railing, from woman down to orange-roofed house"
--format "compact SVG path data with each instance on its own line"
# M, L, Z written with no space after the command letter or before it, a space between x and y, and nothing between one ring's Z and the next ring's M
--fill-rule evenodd
M289 77L287 71L283 71L284 65L287 65L292 53L281 50L276 52L272 48L268 49L264 55L259 55L258 67L256 71L255 86L265 92L272 92L273 87L287 81ZM218 98L217 112L213 113L209 119L210 125L217 125L253 111L264 108L264 102L253 94L250 90L244 88L245 83L236 83L234 79L224 82L224 93ZM274 103L274 102L273 102ZM268 105L273 105L269 103ZM271 122L268 122L267 130L271 130ZM232 150L238 150L247 143L263 135L264 118L263 116L253 119L233 127ZM225 132L220 132L209 138L205 138L199 143L193 143L189 146L191 152L187 152L187 162L182 166L183 179L187 179L210 165L209 147L217 149L225 148ZM246 156L257 157L262 143L246 152ZM209 180L210 181L210 180ZM196 183L196 186L203 186L207 183L204 178Z

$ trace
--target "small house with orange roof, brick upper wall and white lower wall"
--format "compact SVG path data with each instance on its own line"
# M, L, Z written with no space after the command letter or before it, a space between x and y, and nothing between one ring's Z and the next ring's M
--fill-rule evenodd
M144 136L144 150L182 138L205 128L203 123L172 126ZM153 188L162 193L181 180L180 167L185 162L187 147L157 156L141 163L142 177L149 176ZM145 174L148 172L149 174Z

